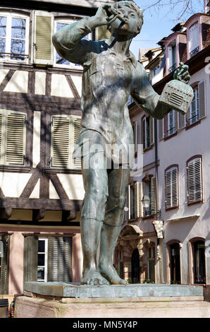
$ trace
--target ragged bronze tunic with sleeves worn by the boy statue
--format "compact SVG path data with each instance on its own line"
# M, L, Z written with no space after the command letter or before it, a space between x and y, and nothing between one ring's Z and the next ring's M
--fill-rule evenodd
M66 25L53 36L58 54L84 68L81 131L74 158L84 155L81 150L84 138L89 138L90 144L101 144L101 150L110 144L121 146L126 151L129 144L133 144L128 112L129 95L153 117L159 101L159 95L150 85L144 67L131 52L122 56L113 52L106 40L82 40L82 37L92 32L88 20L83 18ZM97 131L100 136L94 136L92 131ZM117 160L117 155L112 155L112 158L114 162L122 163L122 160Z

